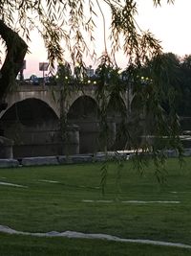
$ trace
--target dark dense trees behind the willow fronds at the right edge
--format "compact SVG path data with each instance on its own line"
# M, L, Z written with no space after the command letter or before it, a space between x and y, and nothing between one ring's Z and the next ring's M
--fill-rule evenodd
M159 62L162 68L158 69ZM152 69L152 76L158 77L163 86L164 108L170 111L170 100L180 116L191 116L191 55L179 58L172 53L163 54L149 61L146 69Z

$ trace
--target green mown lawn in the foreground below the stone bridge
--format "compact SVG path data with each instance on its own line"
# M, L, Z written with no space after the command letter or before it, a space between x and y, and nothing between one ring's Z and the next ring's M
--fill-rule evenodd
M1 169L0 182L25 187L0 185L0 224L29 232L73 230L191 244L191 158L182 169L170 159L163 184L152 165L140 176L126 162L120 175L118 189L117 166L111 164L103 196L100 164ZM3 256L191 255L182 248L3 233L0 241Z

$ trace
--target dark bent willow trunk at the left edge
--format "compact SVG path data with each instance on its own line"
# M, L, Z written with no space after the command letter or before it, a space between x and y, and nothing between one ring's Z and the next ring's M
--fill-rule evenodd
M11 84L23 66L25 55L28 51L26 42L3 20L0 20L0 36L5 41L7 56L0 71L0 111L5 109L5 97Z

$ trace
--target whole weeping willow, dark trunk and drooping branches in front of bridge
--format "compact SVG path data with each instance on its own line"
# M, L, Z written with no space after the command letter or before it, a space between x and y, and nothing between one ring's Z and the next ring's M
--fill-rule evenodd
M48 58L51 68L55 61L62 62L65 59L65 49L71 54L74 64L78 63L78 69L83 74L85 69L84 56L89 53L92 58L96 57L93 49L89 49L89 44L97 43L95 39L96 16L103 21L104 34L104 54L99 58L101 67L100 80L98 82L97 99L101 100L100 116L102 124L106 124L108 97L113 101L120 101L121 95L124 95L132 85L134 93L134 105L137 109L136 118L141 124L146 124L147 118L155 118L153 133L159 135L169 135L170 138L177 139L177 127L171 122L166 128L166 113L162 107L163 96L166 94L163 86L161 73L156 76L159 68L162 70L162 49L154 35L150 32L144 32L138 26L136 21L137 10L136 0L7 0L0 3L0 35L7 50L7 57L1 68L0 77L0 99L3 103L11 83L22 67L23 59L27 53L28 46L25 40L30 39L32 29L39 32L45 42L48 52ZM156 6L160 5L160 0L153 0ZM173 0L167 0L173 3ZM108 50L106 38L106 18L103 10L108 9L111 14L111 27L109 41L111 50ZM107 13L107 15L108 15ZM117 68L116 54L122 49L127 57L126 80L118 85L118 80L114 73L108 77L111 69ZM149 60L154 59L152 66ZM155 65L154 65L155 63ZM149 68L151 68L150 71ZM148 80L142 80L141 73L146 69ZM155 70L155 72L153 71ZM108 81L112 83L108 87ZM115 78L115 79L114 79ZM166 73L168 79L168 74ZM108 89L109 88L109 89ZM67 93L67 92L66 92ZM170 95L169 95L170 96ZM64 95L63 99L66 98ZM4 105L5 106L5 105ZM122 127L125 140L129 141L138 148L141 146L143 151L151 150L150 145L144 142L140 145L135 139L134 134L129 133L129 118L126 105L120 105L123 113ZM154 111L154 112L153 112ZM134 112L135 113L135 112ZM155 113L155 116L154 116ZM169 117L169 113L168 117ZM175 115L173 115L175 116ZM135 121L135 120L134 120ZM134 122L135 124L135 122ZM136 124L137 121L136 121ZM144 126L140 126L145 128ZM107 128L105 128L107 131ZM155 130L155 131L154 131ZM157 132L158 131L158 132ZM145 130L141 130L136 135L145 135ZM105 135L107 136L107 135ZM107 137L103 136L105 142ZM137 143L138 142L138 143ZM177 145L174 145L177 147ZM155 147L154 147L155 148ZM157 148L158 150L158 148Z

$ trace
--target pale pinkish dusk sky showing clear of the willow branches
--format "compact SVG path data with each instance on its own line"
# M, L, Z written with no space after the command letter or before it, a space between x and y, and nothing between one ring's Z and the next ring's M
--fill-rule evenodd
M142 30L149 30L161 41L164 52L172 52L180 57L191 54L191 0L175 0L174 5L161 0L161 7L155 8L152 0L138 0L138 25ZM101 38L97 37L99 50L103 48ZM27 69L25 78L32 74L42 76L39 62L47 61L47 53L43 41L32 32L32 43L29 44L31 54L26 56ZM121 55L118 65L125 67L125 59ZM88 61L87 61L87 64ZM92 64L92 63L90 63Z

